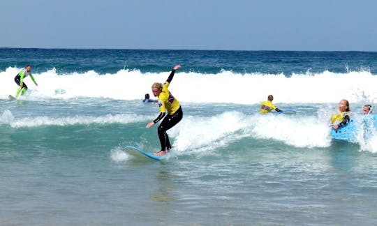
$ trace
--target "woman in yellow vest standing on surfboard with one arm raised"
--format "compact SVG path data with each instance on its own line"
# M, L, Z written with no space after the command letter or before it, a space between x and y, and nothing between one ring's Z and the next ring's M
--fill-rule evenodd
M170 73L168 80L166 80L165 83L161 84L155 82L151 86L153 95L158 98L157 104L160 107L160 114L158 114L157 118L154 119L154 121L151 121L145 127L151 128L151 126L163 119L160 126L158 126L157 128L158 138L160 139L161 143L161 151L155 152L154 154L156 156L162 156L172 148L166 131L177 125L177 123L179 123L179 121L181 121L183 117L181 105L179 105L178 100L174 96L172 96L172 93L170 93L170 91L168 90L170 82L172 82L172 78L174 77L175 70L180 67L180 65L176 65L172 69L172 72ZM166 111L168 111L168 115L165 116Z

